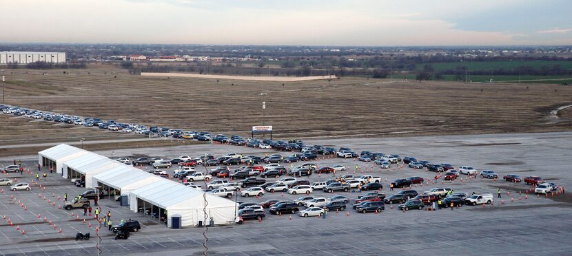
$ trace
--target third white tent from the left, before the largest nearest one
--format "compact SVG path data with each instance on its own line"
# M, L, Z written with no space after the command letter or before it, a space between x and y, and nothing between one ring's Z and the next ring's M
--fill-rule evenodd
M124 168L117 167L94 175L92 180L92 184L94 185L98 183L105 184L112 189L121 191L121 195L128 196L130 191L153 184L154 182L159 182L164 180L164 178L134 167L124 166Z

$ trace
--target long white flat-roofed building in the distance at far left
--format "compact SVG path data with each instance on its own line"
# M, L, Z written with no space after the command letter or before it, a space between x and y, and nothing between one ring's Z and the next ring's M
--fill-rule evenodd
M0 52L0 64L65 63L65 52Z

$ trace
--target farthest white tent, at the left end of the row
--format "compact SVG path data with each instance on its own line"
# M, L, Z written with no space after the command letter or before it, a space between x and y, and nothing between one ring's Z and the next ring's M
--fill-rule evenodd
M78 149L66 144L60 144L49 149L38 152L38 163L46 168L53 167L57 173L62 173L62 164L65 161L73 160L83 156L89 151Z

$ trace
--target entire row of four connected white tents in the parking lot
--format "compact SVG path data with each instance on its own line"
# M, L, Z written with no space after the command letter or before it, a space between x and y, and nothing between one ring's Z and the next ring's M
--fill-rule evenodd
M108 195L120 195L122 206L129 205L132 211L165 220L168 227L196 226L199 222L209 224L211 221L229 224L236 218L236 203L232 200L70 145L40 151L38 162L54 167L63 178L85 179L86 188L97 187Z

